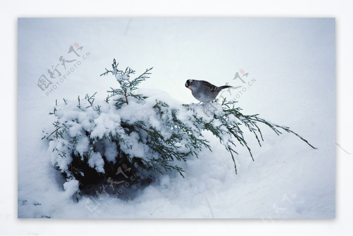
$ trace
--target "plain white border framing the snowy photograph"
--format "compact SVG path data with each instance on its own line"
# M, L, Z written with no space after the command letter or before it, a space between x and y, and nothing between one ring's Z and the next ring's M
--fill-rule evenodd
M352 152L352 1L6 1L1 10L0 234L352 234L352 160L336 149L336 219L17 219L17 17L336 17L336 140ZM19 131L20 132L20 131ZM344 146L345 144L346 146Z

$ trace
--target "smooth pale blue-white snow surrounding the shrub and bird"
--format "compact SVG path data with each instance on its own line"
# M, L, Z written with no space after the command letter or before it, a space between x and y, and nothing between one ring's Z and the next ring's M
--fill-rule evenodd
M75 42L83 46L79 54L89 53L86 59L66 54ZM81 64L63 82L53 79L59 84L47 96L37 80L61 63L61 55ZM90 212L89 196L76 202L64 191L42 129L53 122L48 113L56 99L94 92L105 99L117 82L99 75L113 58L137 74L154 67L140 87L165 91L180 103L197 102L186 79L242 85L246 91L227 96L244 114L286 125L317 150L264 127L262 147L247 139L255 162L246 149L237 150L236 175L229 152L206 133L213 151L180 163L185 178L173 172L145 188L126 187L121 198L100 200L104 210ZM59 67L62 74L71 68ZM246 85L233 80L239 69L249 73ZM335 19L19 19L18 217L263 218L261 224L334 218Z

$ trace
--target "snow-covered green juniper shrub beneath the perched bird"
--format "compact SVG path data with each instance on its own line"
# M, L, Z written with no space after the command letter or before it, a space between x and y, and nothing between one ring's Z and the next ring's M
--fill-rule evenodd
M159 98L158 92L142 95L137 87L149 78L152 68L131 79L135 72L131 68L120 71L115 59L112 67L102 75L112 73L120 87L110 88L102 101L96 101L95 94L74 101L63 99L49 113L57 119L54 130L43 131L54 167L72 183L66 184L71 193L75 186L112 181L110 177L124 164L125 168L161 174L175 170L184 177L176 161L187 161L190 155L197 157L202 148L211 150L202 135L205 131L219 138L230 152L234 167L235 144L245 146L252 157L242 129L252 132L259 144L263 140L259 123L277 134L281 133L279 129L294 133L257 115L243 115L234 102L212 103L217 112L209 115L205 106L210 104L179 104L168 96Z

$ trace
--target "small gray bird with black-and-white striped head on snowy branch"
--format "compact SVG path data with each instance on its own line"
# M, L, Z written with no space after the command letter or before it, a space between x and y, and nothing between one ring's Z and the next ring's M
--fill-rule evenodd
M204 80L188 79L186 80L185 87L191 90L192 96L198 101L212 102L222 89L227 89L232 86L225 85L217 87Z

